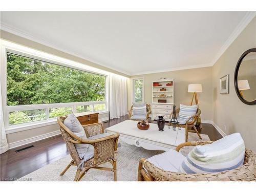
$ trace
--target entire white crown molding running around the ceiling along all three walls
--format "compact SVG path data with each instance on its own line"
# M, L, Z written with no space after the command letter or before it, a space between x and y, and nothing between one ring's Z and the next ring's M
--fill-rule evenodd
M51 47L53 49L65 52L67 54L79 57L81 59L84 60L88 60L90 62L94 62L99 66L103 66L105 68L117 71L119 73L125 74L127 76L135 76L135 75L143 75L143 74L152 74L152 73L162 73L162 72L168 72L168 71L178 71L178 70L186 70L186 69L195 69L195 68L203 68L203 67L211 67L214 66L215 63L218 61L218 59L223 55L223 53L227 50L227 48L232 44L232 42L234 40L236 40L236 38L239 36L239 34L245 29L245 27L251 22L251 20L256 16L256 12L255 11L249 11L246 13L246 15L243 17L243 19L241 20L241 22L238 24L238 26L234 29L234 31L230 34L230 36L228 37L228 39L225 41L225 43L223 44L223 46L220 48L219 52L216 54L216 56L214 57L214 59L210 62L210 63L205 63L202 65L194 65L194 66L184 66L184 67L177 67L177 68L169 68L169 69L163 69L163 70L154 70L154 71L144 71L144 72L139 72L139 73L130 73L128 71L124 71L121 69L116 69L115 67L110 67L109 65L106 65L105 63L102 62L98 62L95 59L89 58L89 57L83 57L81 55L78 55L77 53L74 53L72 50L70 50L69 48L65 47L65 46L58 46L57 44L53 44L52 42L49 42L45 39L41 39L38 37L35 37L23 30L20 30L16 27L10 26L6 23L1 23L1 30L3 31L7 31L9 33L12 33L14 35L20 36L20 37L24 37L27 38L29 40L35 41L39 44Z

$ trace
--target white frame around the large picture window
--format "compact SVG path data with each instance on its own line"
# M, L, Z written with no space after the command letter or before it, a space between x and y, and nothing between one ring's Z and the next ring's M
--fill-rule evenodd
M31 48L20 46L9 41L0 39L1 41L1 91L2 91L2 105L3 105L3 115L6 133L15 133L19 131L25 131L34 129L40 126L46 126L50 124L56 124L56 117L49 118L50 108L59 108L71 106L72 112L76 113L76 106L78 105L92 105L92 112L94 111L94 104L105 104L105 110L97 111L100 114L109 113L109 73L97 68L84 65L69 59L61 58L55 55L37 51ZM105 100L104 101L86 101L86 102L67 102L67 103L50 103L50 104L31 104L31 105L14 105L7 106L7 53L16 54L19 56L29 57L45 62L50 62L55 65L62 67L68 67L75 70L80 70L88 73L94 73L97 75L105 76ZM36 110L36 109L46 109L46 120L31 121L27 123L20 123L15 125L9 125L9 113L14 111L26 111L26 110Z

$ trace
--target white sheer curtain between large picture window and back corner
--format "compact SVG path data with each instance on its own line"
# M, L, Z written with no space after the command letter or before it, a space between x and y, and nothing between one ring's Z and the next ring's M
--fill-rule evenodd
M127 113L127 78L110 75L110 118L119 118Z

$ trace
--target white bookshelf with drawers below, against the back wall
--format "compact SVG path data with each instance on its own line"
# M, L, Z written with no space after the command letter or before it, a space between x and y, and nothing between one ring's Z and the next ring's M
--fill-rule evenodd
M154 86L154 82L160 86ZM168 85L167 83L171 83ZM165 89L161 90L160 89ZM164 99L166 102L159 102L159 99ZM169 115L172 112L174 105L174 79L160 79L152 82L152 120L157 120L158 116L162 115L165 121L168 121Z

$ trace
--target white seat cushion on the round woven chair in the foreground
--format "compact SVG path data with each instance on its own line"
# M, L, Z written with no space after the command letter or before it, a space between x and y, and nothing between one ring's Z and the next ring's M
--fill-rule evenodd
M186 157L175 150L169 150L159 155L155 155L147 160L158 168L169 172L178 172L178 168Z

